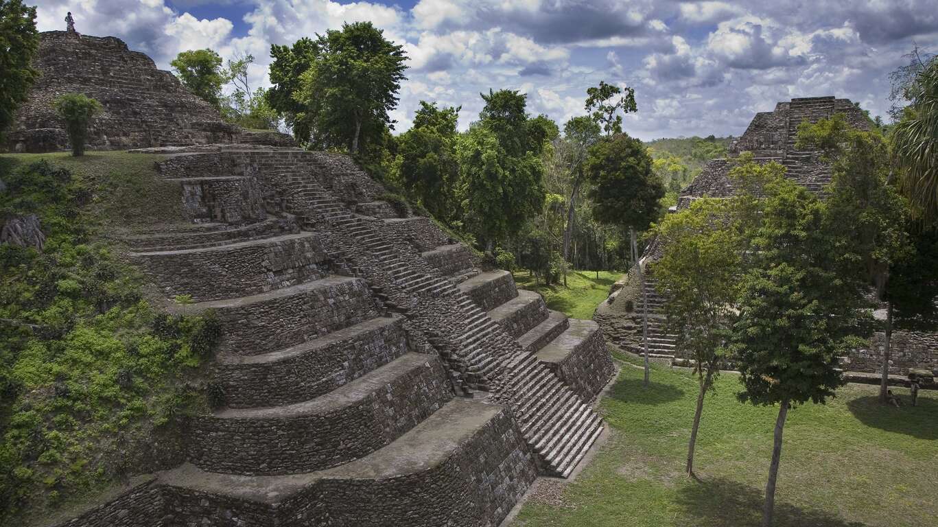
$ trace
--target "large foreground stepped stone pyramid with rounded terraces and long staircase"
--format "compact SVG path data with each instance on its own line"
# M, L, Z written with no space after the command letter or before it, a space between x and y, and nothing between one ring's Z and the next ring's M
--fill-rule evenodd
M189 420L178 466L59 525L496 526L538 474L573 471L614 373L598 324L399 217L351 158L202 144L174 119L159 141L147 121L110 132L189 143L140 150L184 217L120 236L166 309L214 311L220 406Z

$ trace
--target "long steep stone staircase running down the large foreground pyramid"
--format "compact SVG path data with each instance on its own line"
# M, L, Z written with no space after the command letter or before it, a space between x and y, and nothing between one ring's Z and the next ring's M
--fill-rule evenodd
M431 334L430 342L444 357L457 390L466 395L473 390L492 391L494 399L509 402L543 470L561 476L572 471L598 437L602 424L588 404L596 394L584 401L537 358L537 345L563 331L566 317L554 315L537 321L537 327L528 328L533 333L521 335L526 343L522 347L486 312L502 303L497 288L491 286L493 277L501 279L502 289L517 294L507 272L481 274L457 287L457 280L434 272L426 263L416 264L415 258L406 258L407 251L382 233L378 222L353 214L318 184L313 173L290 171L271 177L280 194L287 196L289 212L310 229L327 230L340 238L343 256L352 263L350 270L369 280L384 305L405 310L413 320L437 317L439 313L422 308L431 306L427 298L442 299L445 309L455 315L456 330L449 336ZM363 262L363 257L371 262ZM483 294L473 294L477 289ZM433 328L429 329L432 333ZM594 333L599 336L597 328ZM599 348L605 353L604 346ZM600 372L604 375L602 384L612 372L610 361Z

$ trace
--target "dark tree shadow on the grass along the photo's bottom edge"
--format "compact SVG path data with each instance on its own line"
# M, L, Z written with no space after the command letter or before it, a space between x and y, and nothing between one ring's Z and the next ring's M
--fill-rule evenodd
M730 479L704 478L681 487L677 504L684 514L697 519L694 525L742 527L762 523L764 495ZM848 522L821 510L806 510L779 503L776 495L775 527L864 527L864 523Z

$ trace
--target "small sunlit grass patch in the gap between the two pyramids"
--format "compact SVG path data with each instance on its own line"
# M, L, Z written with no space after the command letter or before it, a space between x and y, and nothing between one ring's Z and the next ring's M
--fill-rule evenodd
M567 313L575 319L591 319L593 311L600 302L609 296L609 288L622 273L615 271L569 271L567 273L567 287L559 285L544 285L535 283L534 277L528 271L515 273L515 282L518 287L544 296L547 307Z

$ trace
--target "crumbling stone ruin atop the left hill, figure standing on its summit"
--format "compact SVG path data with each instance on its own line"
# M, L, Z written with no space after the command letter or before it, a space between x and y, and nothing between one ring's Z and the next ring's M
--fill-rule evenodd
M89 149L126 149L201 143L290 146L290 136L225 123L210 104L144 53L114 37L75 31L39 34L34 68L40 72L29 99L7 130L0 151L54 152L70 148L65 124L53 113L58 96L81 93L104 107L88 134Z

